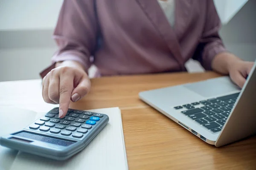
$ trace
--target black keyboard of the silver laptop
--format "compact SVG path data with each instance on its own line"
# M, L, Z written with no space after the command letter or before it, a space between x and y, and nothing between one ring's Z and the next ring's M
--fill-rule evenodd
M212 133L218 133L226 123L239 93L174 107ZM202 106L203 105L203 106Z

